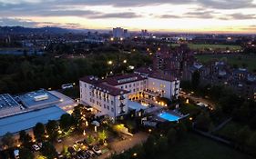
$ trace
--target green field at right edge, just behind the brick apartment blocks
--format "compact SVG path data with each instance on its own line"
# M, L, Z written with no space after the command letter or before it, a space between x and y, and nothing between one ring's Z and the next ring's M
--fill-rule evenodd
M237 65L242 67L243 65L248 68L249 71L256 70L256 55L196 55L197 59L201 63L210 62L212 59L226 60L231 66Z

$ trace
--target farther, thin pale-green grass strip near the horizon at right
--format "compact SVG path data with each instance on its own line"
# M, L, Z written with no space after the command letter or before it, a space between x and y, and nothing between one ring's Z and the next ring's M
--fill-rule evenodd
M229 50L240 50L241 46L240 45L197 45L197 44L188 44L190 49L193 50L226 50L229 48ZM172 44L172 46L179 46L179 44Z

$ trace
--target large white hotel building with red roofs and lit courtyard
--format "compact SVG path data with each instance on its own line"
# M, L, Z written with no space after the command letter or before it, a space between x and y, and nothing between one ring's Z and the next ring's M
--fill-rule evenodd
M105 80L95 76L80 79L80 99L82 104L88 104L102 114L108 114L113 120L118 116L128 114L131 101L144 101L156 104L156 97L169 99L179 95L179 80L159 73L142 72L137 74L117 75ZM144 100L148 99L148 100Z

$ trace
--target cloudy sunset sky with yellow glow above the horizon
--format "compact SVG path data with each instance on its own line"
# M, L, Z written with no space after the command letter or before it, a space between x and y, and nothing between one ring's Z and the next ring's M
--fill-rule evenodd
M0 0L0 25L256 33L256 0Z

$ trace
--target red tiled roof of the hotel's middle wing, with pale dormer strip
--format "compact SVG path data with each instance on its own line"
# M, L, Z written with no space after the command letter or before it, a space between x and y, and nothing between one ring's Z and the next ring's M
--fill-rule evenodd
M117 75L113 77L108 77L105 81L110 85L119 85L127 84L130 82L136 82L147 79L137 74L128 74L128 75Z

